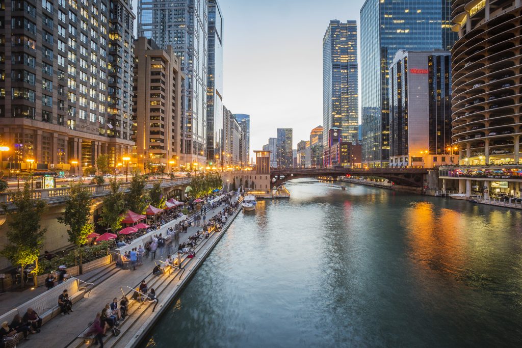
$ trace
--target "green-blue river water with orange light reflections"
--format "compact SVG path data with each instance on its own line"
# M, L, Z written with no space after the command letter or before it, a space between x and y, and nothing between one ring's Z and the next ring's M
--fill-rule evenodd
M240 212L143 347L522 344L520 211L341 185Z

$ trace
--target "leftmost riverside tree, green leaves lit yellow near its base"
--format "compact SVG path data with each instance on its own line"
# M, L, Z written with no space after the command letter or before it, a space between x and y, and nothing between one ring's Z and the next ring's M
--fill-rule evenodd
M46 204L41 199L33 199L33 192L31 184L26 181L22 190L11 195L16 209L8 210L5 203L2 206L7 212L9 244L0 251L0 255L6 257L13 265L20 265L22 270L38 260L47 231L40 229L41 215ZM23 281L21 283L23 287Z

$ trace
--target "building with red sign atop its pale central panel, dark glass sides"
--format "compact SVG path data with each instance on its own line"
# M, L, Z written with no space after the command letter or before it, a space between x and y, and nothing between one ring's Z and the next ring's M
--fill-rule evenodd
M451 56L405 51L389 67L389 166L451 163Z

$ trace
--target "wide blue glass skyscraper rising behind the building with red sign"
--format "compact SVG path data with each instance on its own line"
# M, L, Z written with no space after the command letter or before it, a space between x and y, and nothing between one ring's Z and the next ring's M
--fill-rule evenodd
M389 163L388 67L399 50L449 51L450 0L367 0L361 8L363 161Z

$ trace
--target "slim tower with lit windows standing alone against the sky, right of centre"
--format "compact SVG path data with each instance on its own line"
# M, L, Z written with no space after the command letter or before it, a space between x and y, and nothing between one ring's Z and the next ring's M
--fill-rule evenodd
M341 130L342 139L357 141L359 124L357 22L331 20L323 37L324 133ZM324 136L324 139L327 137ZM326 146L326 143L323 144Z

